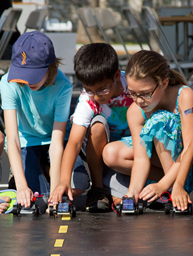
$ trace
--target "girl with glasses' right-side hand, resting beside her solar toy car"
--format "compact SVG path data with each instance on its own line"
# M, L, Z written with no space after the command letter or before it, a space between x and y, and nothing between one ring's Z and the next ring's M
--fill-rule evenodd
M145 188L143 188L142 192L139 195L140 199L143 201L148 200L148 202L152 202L159 198L159 195L162 193L162 186L159 183L149 184Z

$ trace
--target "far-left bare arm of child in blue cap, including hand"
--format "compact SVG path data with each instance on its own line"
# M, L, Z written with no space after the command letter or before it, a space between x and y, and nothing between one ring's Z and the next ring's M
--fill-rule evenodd
M7 153L17 186L17 201L21 206L31 205L32 191L28 188L21 160L21 146L18 135L16 110L4 110L7 134Z

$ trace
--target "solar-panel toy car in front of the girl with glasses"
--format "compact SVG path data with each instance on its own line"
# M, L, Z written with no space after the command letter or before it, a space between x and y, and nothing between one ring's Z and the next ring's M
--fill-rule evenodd
M116 213L120 216L124 214L143 214L143 203L136 204L134 198L124 196L123 204L117 204Z

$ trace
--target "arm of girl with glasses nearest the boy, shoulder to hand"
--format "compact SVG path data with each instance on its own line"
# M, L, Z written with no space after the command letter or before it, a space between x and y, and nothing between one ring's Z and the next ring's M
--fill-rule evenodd
M151 164L148 154L146 153L146 148L140 145L140 132L143 128L145 119L143 118L140 107L135 103L132 103L127 111L127 120L131 130L134 148L134 165L132 167L131 182L127 196L134 196L135 201L137 202L139 194L148 178Z

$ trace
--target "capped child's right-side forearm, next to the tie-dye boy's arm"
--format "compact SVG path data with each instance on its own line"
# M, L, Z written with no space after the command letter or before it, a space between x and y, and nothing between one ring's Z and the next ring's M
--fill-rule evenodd
M59 184L62 155L64 153L64 138L67 122L54 122L49 148L50 156L50 193Z

